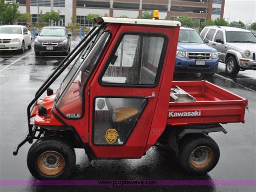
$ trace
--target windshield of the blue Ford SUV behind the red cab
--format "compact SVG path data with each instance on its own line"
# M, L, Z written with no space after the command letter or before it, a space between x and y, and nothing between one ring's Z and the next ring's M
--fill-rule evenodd
M201 38L200 34L197 31L180 30L179 42L194 42L197 44L203 44L204 40Z

